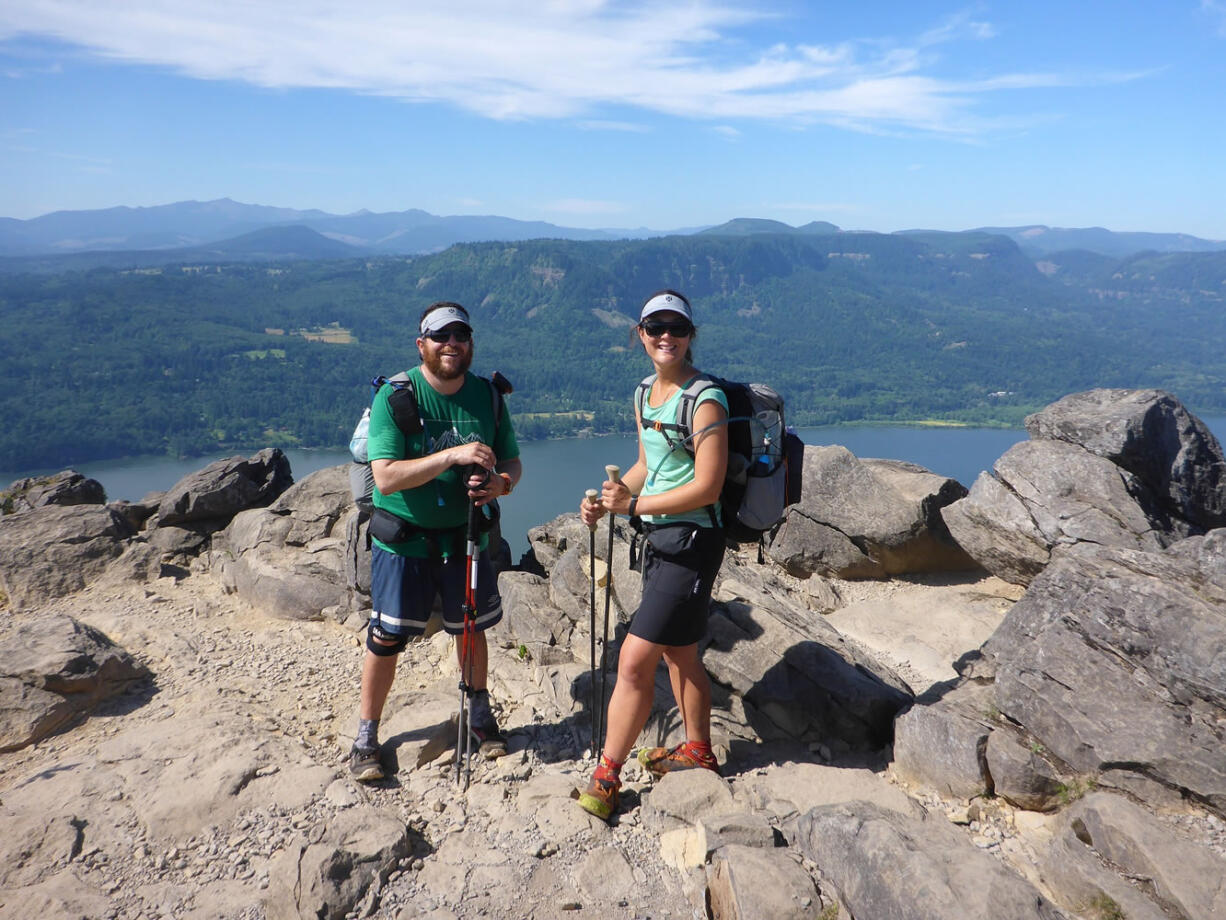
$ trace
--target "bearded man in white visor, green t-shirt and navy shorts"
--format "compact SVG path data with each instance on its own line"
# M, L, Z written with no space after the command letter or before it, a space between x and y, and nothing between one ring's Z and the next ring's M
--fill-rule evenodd
M476 561L477 633L467 644L466 662L465 537L468 502L485 505L510 494L519 482L520 449L505 404L493 397L489 381L468 373L473 340L463 307L445 301L428 307L418 326L417 350L422 363L408 375L419 433L401 429L412 432L416 423L405 423L403 394L391 385L384 385L370 406L373 610L362 664L358 737L349 751L349 772L360 781L384 776L379 719L396 677L397 656L408 639L425 631L436 596L443 601L444 628L457 637L456 659L473 692L471 727L479 752L487 758L506 753L489 707L484 634L501 619L503 602L482 535ZM494 416L499 410L500 421Z

